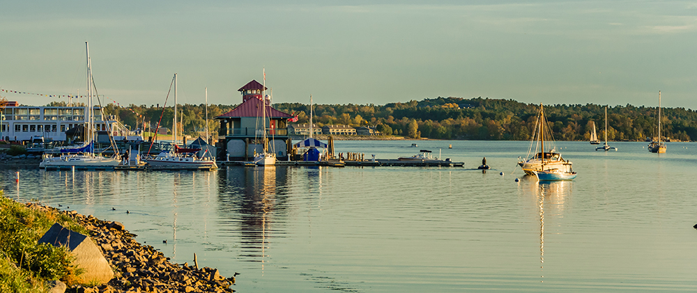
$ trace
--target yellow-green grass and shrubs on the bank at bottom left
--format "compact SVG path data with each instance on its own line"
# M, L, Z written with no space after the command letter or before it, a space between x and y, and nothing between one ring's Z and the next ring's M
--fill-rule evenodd
M56 222L87 234L66 214L30 209L0 191L0 292L45 291L43 284L49 280L77 283L81 271L72 266L67 248L38 244Z

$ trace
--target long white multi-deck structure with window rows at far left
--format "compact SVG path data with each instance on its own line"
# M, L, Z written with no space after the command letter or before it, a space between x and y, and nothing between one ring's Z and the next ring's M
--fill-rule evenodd
M43 136L54 141L66 141L66 132L78 125L84 125L84 106L20 106L8 102L0 109L2 139L10 141L31 141L32 136ZM106 130L99 107L94 107L95 128ZM114 122L114 121L111 121Z

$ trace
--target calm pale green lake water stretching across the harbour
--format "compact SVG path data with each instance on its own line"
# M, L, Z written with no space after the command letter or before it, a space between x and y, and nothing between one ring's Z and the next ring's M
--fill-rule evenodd
M238 292L697 290L696 144L657 155L558 142L579 177L538 184L516 168L527 142L411 143L336 148L385 159L442 148L465 168L20 170L19 184L0 170L1 187L120 221L174 262L196 253L239 272ZM475 169L482 157L493 170Z

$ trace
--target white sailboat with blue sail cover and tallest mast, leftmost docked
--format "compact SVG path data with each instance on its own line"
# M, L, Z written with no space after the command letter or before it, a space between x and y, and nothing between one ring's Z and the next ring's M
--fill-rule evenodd
M89 169L89 168L114 168L121 164L121 160L117 159L118 149L114 147L114 157L102 157L101 155L94 153L94 141L95 141L95 127L94 127L94 106L93 97L96 95L96 88L93 84L92 79L92 66L89 58L89 44L85 42L85 48L87 52L87 91L86 91L86 102L85 102L85 139L84 144L78 146L77 148L61 148L60 157L51 157L50 155L44 155L43 160L39 163L39 168L79 168L79 169ZM103 109L100 107L100 111ZM104 113L102 112L102 118L104 118ZM107 127L110 127L109 123L106 123ZM111 141L112 146L114 146L114 141L112 141L111 130L107 128L109 132L109 141Z

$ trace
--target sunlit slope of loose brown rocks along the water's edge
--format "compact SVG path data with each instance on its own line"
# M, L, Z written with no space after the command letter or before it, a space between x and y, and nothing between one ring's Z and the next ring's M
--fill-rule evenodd
M198 268L197 264L174 264L153 246L135 241L136 235L125 230L123 224L102 221L95 216L84 216L75 211L60 211L37 203L27 207L43 212L64 213L89 230L89 237L100 248L114 271L114 278L104 285L86 287L76 285L66 292L234 292L230 288L235 277L220 276L217 269Z

